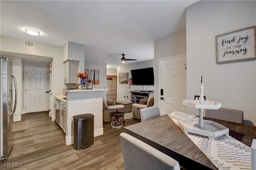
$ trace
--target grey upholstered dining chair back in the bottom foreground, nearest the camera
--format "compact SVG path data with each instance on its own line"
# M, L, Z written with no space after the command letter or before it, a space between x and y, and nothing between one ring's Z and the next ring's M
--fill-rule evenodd
M139 139L120 133L125 170L180 170L180 164Z

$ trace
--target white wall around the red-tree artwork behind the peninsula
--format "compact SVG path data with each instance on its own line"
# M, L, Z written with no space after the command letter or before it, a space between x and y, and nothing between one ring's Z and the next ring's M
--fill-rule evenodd
M84 68L100 70L100 84L93 84L93 88L106 88L107 87L107 63L96 63L92 61L85 61ZM103 91L106 97L107 92Z

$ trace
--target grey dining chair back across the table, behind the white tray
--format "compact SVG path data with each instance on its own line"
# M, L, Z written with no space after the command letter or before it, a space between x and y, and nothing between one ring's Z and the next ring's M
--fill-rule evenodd
M219 108L218 110L206 109L205 117L243 124L244 111Z

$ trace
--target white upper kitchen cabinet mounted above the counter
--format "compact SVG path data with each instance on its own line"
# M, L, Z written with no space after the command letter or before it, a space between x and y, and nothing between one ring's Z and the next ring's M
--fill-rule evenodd
M78 84L79 61L69 60L64 63L64 83Z

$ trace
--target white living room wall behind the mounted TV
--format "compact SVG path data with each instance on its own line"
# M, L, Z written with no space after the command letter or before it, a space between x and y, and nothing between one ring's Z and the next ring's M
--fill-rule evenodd
M140 69L140 68L148 68L153 67L154 70L154 78L156 79L155 68L154 68L154 60L142 61L138 63L132 64L124 64L122 66L117 67L117 78L119 73L128 72L128 79L132 77L131 70ZM130 91L136 90L154 90L154 85L131 85L128 84L117 84L117 100L125 100L131 101Z

